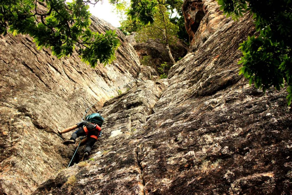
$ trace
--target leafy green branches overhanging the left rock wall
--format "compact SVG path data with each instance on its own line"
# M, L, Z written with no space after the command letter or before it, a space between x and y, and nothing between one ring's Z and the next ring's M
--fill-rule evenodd
M98 1L0 0L0 34L29 34L38 49L50 48L58 58L78 46L83 62L93 68L98 61L106 65L114 60L120 42L115 31L99 34L89 29L88 4Z

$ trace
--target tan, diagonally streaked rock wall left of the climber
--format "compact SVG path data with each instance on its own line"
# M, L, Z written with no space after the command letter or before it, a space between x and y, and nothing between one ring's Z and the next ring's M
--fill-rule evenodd
M92 29L114 27L92 18ZM62 145L57 129L80 121L91 104L96 102L89 112L97 111L118 89L124 92L135 85L140 62L118 34L117 60L95 69L77 53L58 60L49 50L37 50L30 37L1 36L0 194L30 194L65 168L73 147Z

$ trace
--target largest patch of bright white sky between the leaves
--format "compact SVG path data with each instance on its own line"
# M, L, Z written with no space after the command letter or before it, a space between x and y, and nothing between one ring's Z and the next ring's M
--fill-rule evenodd
M111 23L114 27L120 27L119 20L121 19L114 9L115 6L109 4L108 0L104 0L103 4L101 4L101 2L99 1L95 5L95 7L93 7L93 5L90 5L89 11L92 15Z

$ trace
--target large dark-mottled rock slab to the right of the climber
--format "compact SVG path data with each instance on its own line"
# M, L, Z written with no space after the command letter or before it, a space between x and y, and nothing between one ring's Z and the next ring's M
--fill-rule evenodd
M286 92L263 94L238 75L238 45L254 33L248 16L229 21L178 61L170 80L106 102L92 159L34 194L289 194Z

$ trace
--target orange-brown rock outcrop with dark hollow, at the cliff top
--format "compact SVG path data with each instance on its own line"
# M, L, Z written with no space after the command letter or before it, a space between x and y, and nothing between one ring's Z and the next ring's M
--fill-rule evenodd
M189 51L197 50L218 27L230 21L219 10L215 0L185 0L183 15L190 37Z

